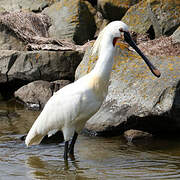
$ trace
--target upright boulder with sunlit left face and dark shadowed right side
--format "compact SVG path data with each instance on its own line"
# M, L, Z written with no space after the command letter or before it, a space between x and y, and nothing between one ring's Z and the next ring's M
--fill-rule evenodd
M96 24L93 8L87 1L61 0L46 8L43 13L52 19L50 37L66 39L76 44L84 44L94 37Z

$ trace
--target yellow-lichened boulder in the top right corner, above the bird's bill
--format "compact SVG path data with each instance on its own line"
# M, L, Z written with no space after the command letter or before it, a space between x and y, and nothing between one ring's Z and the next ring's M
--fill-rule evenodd
M143 14L143 16L142 16ZM179 26L178 1L149 0L132 6L122 18L132 31L150 33L155 37L171 35Z

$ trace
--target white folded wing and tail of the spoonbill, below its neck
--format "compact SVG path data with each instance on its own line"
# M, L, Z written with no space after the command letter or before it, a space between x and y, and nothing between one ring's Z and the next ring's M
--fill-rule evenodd
M58 129L63 130L63 134L66 133L64 136L70 138L77 123L80 123L79 129L82 129L86 120L96 112L96 106L86 81L76 81L65 86L46 103L26 137L26 145L39 144L49 131Z

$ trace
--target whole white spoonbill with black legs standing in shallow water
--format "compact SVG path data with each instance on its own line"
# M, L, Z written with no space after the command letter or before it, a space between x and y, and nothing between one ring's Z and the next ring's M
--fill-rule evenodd
M100 32L92 49L92 53L98 51L98 60L94 69L60 89L49 99L26 137L27 146L39 144L49 132L61 130L65 140L64 159L68 159L68 153L70 157L74 156L74 144L78 134L86 121L99 110L107 95L115 44L121 35L145 60L152 73L157 77L160 76L160 72L135 45L128 26L121 21L109 23Z

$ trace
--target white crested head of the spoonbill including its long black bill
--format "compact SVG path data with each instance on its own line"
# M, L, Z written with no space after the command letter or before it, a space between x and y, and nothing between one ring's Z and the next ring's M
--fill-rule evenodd
M142 57L145 61L151 72L156 76L160 77L160 71L148 60L148 58L141 52L141 50L136 46L135 42L131 38L129 33L128 26L122 21L113 21L109 23L100 33L93 45L92 54L96 52L100 53L101 48L103 47L102 41L104 39L108 39L112 45L115 47L116 42L119 38L123 37L123 39Z

